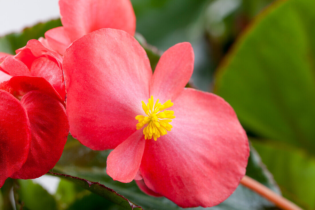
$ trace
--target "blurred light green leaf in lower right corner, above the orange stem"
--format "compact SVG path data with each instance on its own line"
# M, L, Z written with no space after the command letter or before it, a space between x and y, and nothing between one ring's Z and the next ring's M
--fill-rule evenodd
M315 209L315 159L283 143L253 141L264 163L278 180L283 195L305 209Z

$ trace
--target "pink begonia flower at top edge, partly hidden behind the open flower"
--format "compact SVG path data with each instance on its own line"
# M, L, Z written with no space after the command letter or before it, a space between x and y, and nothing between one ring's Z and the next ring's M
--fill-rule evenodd
M50 29L39 40L63 55L76 39L101 28L135 34L136 18L130 0L60 0L63 26Z

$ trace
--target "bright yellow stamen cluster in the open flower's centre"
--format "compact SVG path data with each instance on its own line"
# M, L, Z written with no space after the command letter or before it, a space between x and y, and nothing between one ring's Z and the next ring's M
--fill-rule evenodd
M137 124L137 130L141 129L144 125L147 125L143 129L145 139L153 139L156 141L158 137L166 135L167 131L171 131L173 127L170 122L174 119L174 111L165 110L174 105L171 100L161 104L158 99L154 104L153 96L148 99L148 103L145 104L142 101L143 111L147 116L137 115L136 120L139 121Z

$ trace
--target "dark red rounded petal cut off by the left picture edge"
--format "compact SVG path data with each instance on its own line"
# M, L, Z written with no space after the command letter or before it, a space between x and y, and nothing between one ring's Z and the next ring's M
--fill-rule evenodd
M25 108L9 92L0 90L0 187L26 161L31 145Z

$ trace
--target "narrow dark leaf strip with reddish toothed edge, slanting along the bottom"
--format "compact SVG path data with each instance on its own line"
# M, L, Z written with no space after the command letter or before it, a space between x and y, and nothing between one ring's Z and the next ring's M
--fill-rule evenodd
M70 180L74 182L75 184L90 190L91 192L94 192L97 195L100 195L104 198L106 198L109 201L112 201L113 203L117 203L122 207L125 207L127 209L142 209L140 206L132 203L122 195L119 195L117 192L114 190L105 187L103 184L100 184L98 182L91 182L89 180L83 179L83 178L78 178L78 177L73 177L70 175L66 174L60 174L60 173L52 173L48 172L48 174L56 176L56 177L61 177L65 178L67 180Z

